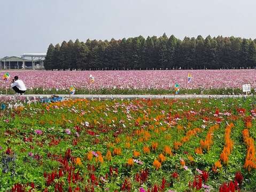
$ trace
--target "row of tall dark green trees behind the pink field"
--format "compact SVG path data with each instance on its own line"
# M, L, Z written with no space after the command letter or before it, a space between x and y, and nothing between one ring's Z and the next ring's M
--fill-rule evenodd
M240 69L255 68L256 39L240 37L142 36L120 40L78 39L49 45L45 69Z

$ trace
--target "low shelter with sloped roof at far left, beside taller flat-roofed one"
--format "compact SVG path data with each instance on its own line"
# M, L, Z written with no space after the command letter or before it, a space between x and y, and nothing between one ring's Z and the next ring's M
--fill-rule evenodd
M22 62L22 64L21 64ZM7 64L9 64L9 69L19 69L21 66L22 69L25 69L25 63L26 62L32 62L32 60L24 59L24 58L19 58L19 57L4 57L0 59L0 69L7 69Z

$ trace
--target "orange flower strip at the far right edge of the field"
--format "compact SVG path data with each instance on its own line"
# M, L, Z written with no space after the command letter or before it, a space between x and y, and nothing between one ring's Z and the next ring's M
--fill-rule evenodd
M252 137L250 137L248 129L243 130L243 137L244 142L247 146L247 154L245 157L244 168L248 171L251 171L251 169L256 169L254 140Z

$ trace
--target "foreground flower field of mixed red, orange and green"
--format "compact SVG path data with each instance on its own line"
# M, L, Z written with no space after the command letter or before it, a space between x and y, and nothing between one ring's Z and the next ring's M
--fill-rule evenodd
M15 102L0 191L256 190L254 98Z

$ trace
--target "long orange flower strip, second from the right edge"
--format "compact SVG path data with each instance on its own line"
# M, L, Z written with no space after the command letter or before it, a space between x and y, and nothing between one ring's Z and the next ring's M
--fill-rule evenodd
M228 163L228 157L231 154L231 151L232 151L233 145L234 145L234 142L230 139L230 133L231 133L232 127L234 127L234 124L230 123L227 125L226 130L225 130L225 146L220 155L220 159L224 164Z

